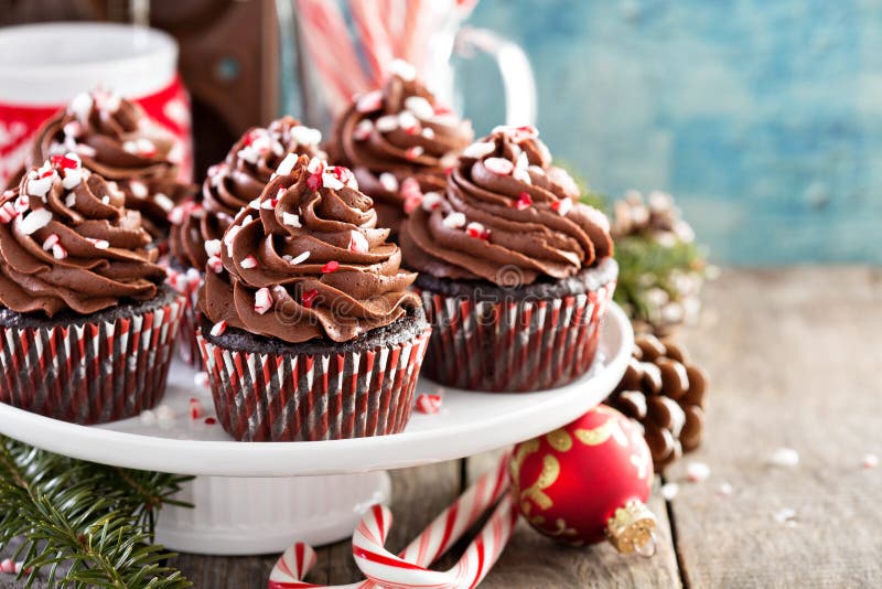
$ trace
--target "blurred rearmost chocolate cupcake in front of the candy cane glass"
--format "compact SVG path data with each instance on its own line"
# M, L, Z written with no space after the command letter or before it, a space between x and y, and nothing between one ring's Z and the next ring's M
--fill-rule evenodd
M334 125L331 161L348 165L374 199L378 225L397 236L423 193L443 192L445 172L474 137L472 125L435 100L413 67L396 62L381 90L356 98Z

